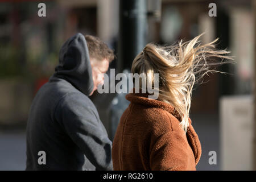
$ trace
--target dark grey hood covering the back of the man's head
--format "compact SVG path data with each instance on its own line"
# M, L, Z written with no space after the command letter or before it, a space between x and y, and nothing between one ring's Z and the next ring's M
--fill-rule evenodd
M84 35L77 33L61 47L55 77L70 82L86 96L93 90L92 68Z

